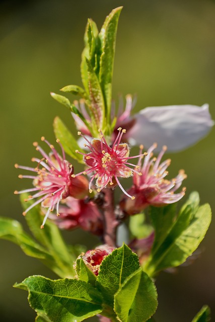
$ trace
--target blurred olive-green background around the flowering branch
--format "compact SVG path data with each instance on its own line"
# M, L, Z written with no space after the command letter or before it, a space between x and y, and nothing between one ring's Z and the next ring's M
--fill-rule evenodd
M31 165L32 142L42 135L54 141L52 122L59 115L74 131L69 112L50 91L81 85L80 62L88 18L99 28L107 14L124 6L119 20L113 97L137 94L135 111L147 106L210 105L215 119L215 3L209 0L38 0L0 2L1 55L1 214L24 225L15 189L29 182L17 178L15 163ZM75 97L74 97L75 99ZM172 158L170 175L185 169L187 195L200 193L201 203L215 208L215 149L213 129L195 146ZM144 143L144 142L143 142ZM25 225L26 227L26 225ZM26 228L27 229L27 228ZM189 322L205 303L215 318L215 224L200 245L199 258L176 274L162 273L156 285L157 322ZM66 232L70 243L93 247L97 239L80 231ZM41 274L56 276L15 245L1 240L1 321L34 320L27 292L15 282ZM93 320L93 319L92 319Z

